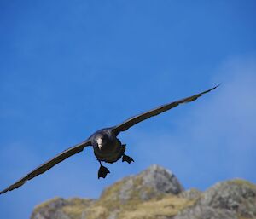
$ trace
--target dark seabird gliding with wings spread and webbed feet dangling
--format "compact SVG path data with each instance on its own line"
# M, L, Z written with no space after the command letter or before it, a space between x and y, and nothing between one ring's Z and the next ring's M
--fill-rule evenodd
M216 89L217 87L218 85L212 89ZM154 117L160 114L161 112L166 112L167 110L170 110L173 107L177 107L179 104L195 101L201 95L210 92L212 89L207 89L204 92L201 92L197 95L189 96L187 98L183 98L179 101L173 101L171 103L161 105L160 107L156 107L152 110L149 110L148 112L143 112L137 116L128 118L127 120L125 120L125 122L115 125L113 127L97 130L93 135L90 135L90 137L85 141L68 148L62 153L57 154L54 158L49 159L44 164L38 166L38 168L32 170L26 176L22 177L19 181L3 189L3 191L1 191L0 194L21 187L27 181L31 180L32 178L40 174L43 174L45 171L55 166L55 164L59 164L64 159L69 158L76 153L82 152L84 150L84 147L89 146L93 147L94 154L98 162L100 163L100 168L98 170L98 178L105 178L108 175L108 173L110 173L110 171L108 170L108 168L102 165L102 162L112 164L118 161L120 158L122 158L122 162L127 162L129 164L131 162L134 162L134 160L131 157L125 154L125 144L122 144L117 137L121 131L128 130L129 128L131 128L131 126L138 124L150 117Z

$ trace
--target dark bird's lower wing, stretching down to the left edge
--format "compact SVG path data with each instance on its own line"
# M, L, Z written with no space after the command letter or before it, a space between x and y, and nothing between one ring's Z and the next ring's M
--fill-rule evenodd
M55 164L59 164L61 161L63 161L66 158L69 158L70 156L74 155L75 153L80 153L84 150L84 147L90 146L90 141L86 140L78 145L75 145L73 147L68 148L62 153L59 153L54 158L49 159L44 164L41 164L36 168L35 170L32 170L30 173L28 173L26 176L21 178L19 181L15 182L14 184L10 185L9 187L5 188L3 191L0 192L0 194L6 193L8 191L12 191L15 188L21 187L25 182L31 180L32 178L44 173L45 171L49 170Z

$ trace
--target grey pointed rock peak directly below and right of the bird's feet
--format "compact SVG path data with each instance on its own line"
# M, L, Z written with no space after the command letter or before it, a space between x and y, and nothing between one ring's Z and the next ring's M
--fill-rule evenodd
M148 200L164 194L183 192L183 186L170 170L153 164L136 176L125 177L106 188L101 199L119 200L122 204L134 199Z

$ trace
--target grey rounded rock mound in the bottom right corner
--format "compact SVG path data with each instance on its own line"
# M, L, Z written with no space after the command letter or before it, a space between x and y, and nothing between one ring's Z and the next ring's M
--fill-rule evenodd
M256 186L241 179L218 182L201 193L195 205L189 206L174 217L174 219L197 218L256 218Z

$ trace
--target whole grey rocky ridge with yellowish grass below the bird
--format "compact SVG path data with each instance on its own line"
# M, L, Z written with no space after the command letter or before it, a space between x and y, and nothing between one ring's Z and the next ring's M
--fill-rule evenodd
M256 186L218 182L205 192L184 191L171 171L152 165L106 188L100 199L55 198L31 219L246 219L256 218Z

